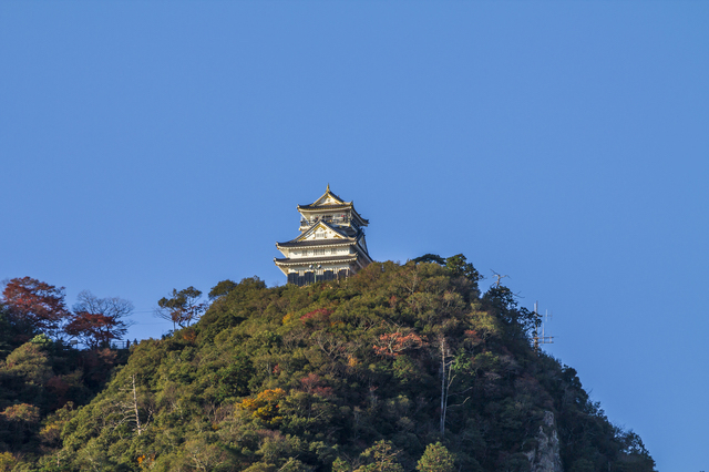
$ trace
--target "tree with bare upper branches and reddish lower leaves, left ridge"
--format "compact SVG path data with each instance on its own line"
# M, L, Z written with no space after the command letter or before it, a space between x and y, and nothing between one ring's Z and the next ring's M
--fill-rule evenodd
M122 298L99 298L89 290L79 294L71 321L64 328L92 349L107 347L121 339L132 322L124 318L133 311L133 304Z

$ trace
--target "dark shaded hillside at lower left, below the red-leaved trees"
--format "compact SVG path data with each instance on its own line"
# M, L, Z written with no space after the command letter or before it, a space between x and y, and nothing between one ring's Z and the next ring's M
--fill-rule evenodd
M0 339L8 348L0 352L0 471L4 472L60 447L55 421L71 418L74 407L91 401L129 352L78 351L45 335L18 345L12 342L18 338L12 327L2 321L0 312L0 326L7 328Z

